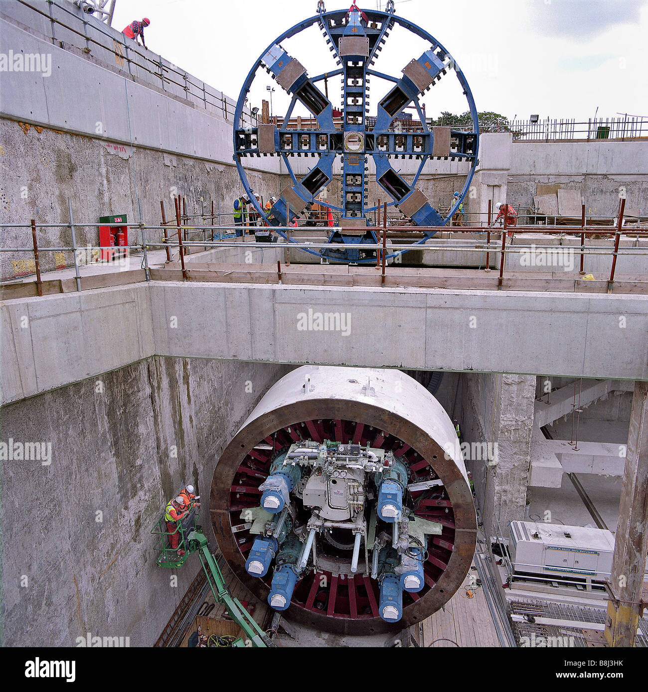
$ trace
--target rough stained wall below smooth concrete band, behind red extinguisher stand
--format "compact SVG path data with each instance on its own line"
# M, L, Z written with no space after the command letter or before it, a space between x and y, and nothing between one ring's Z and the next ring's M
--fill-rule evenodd
M174 194L186 196L188 214L219 208L231 215L232 201L242 192L233 164L217 163L189 156L170 156L156 149L107 143L55 129L41 129L0 119L3 142L3 174L0 181L0 233L3 247L31 247L28 228L1 228L2 224L68 224L68 203L77 224L98 223L100 216L127 215L130 224L138 222L137 200L145 224L161 222L160 201L166 218L174 217ZM251 184L267 199L278 194L280 176L253 171ZM232 217L222 217L232 224ZM216 219L216 223L218 223ZM199 219L195 224L201 225ZM98 228L76 229L78 246L97 246ZM69 228L39 228L40 248L71 247ZM148 231L149 242L159 242L161 233ZM136 228L129 240L139 242ZM86 256L87 255L87 256ZM42 271L73 266L73 253L40 253ZM91 253L81 253L82 263ZM2 253L3 279L35 271L31 253Z

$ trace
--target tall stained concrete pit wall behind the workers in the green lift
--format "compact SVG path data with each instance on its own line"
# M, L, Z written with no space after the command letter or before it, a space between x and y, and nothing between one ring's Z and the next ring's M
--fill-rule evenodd
M51 464L3 461L5 646L75 646L87 632L151 646L201 569L155 565L150 530L216 460L278 365L148 358L0 410L0 439L51 444ZM172 576L177 575L177 585Z

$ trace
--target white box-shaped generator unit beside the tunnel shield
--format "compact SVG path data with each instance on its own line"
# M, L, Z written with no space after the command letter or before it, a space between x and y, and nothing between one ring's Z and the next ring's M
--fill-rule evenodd
M516 572L605 581L612 572L614 536L606 529L512 521L509 549Z

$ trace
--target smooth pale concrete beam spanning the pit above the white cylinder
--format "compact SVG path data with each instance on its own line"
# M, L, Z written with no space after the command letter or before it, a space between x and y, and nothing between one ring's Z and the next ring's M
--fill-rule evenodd
M648 379L643 295L152 281L0 308L4 402L153 355Z

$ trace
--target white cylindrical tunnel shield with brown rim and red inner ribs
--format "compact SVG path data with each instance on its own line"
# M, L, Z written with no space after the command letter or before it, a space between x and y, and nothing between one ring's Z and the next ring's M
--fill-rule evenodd
M266 601L271 571L262 579L246 572L255 535L245 513L259 507L259 486L280 450L306 440L392 450L407 468L408 486L433 481L428 489L407 494L415 517L439 527L426 536L422 590L403 593L399 622L384 621L371 565L363 556L353 573L352 536L330 531L318 539L316 564L300 575L285 616L344 634L386 632L418 622L456 592L474 554L476 515L456 439L440 404L402 372L300 367L267 392L219 459L210 504L217 543L240 581ZM295 491L301 493L303 486Z

